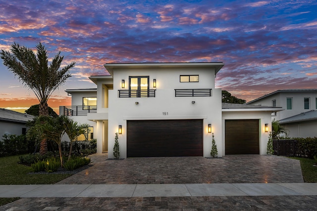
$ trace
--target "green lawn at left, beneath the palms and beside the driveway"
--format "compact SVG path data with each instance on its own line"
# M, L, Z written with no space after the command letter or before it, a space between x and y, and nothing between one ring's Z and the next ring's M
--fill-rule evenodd
M54 184L71 174L28 174L31 167L18 164L19 156L0 158L0 185ZM0 206L19 198L0 198Z

